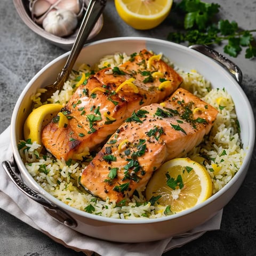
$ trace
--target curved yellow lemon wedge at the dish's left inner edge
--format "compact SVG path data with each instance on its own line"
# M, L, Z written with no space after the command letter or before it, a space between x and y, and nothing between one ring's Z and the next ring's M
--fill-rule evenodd
M41 145L42 128L51 121L51 119L59 113L62 105L58 103L45 104L34 109L27 117L23 134L25 140L31 139L31 142L37 142Z

